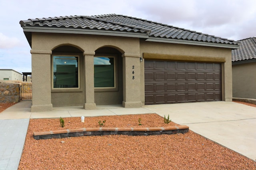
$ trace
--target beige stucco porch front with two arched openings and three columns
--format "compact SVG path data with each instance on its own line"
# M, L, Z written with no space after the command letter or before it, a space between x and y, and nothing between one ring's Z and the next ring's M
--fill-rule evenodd
M137 38L125 37L108 37L108 36L92 36L92 35L74 35L74 34L45 34L32 33L32 72L33 72L33 88L32 111L51 110L52 106L74 106L84 103L85 109L95 109L97 104L114 97L107 93L106 98L99 98L94 93L94 72L93 57L95 51L101 47L113 47L122 53L122 62L126 64L123 67L122 75L122 103L124 107L140 107L140 45ZM80 49L83 53L83 67L80 80L84 81L81 86L82 92L56 92L51 85L51 51L62 45L71 45ZM46 66L47 65L47 66ZM136 65L136 78L132 79L132 66ZM46 76L48 76L46 78ZM46 78L46 79L44 79ZM133 80L133 81L131 81ZM42 89L44 87L44 89ZM129 87L129 88L126 88ZM134 94L134 92L136 92ZM102 93L103 94L103 93ZM113 95L113 94L112 94ZM119 95L120 96L120 95ZM96 97L96 102L95 102ZM70 98L70 100L68 100ZM119 97L120 98L120 97ZM112 98L113 100L113 98ZM116 99L114 99L116 100ZM62 102L61 102L62 101ZM104 104L104 102L103 102ZM41 108L40 108L41 105Z

